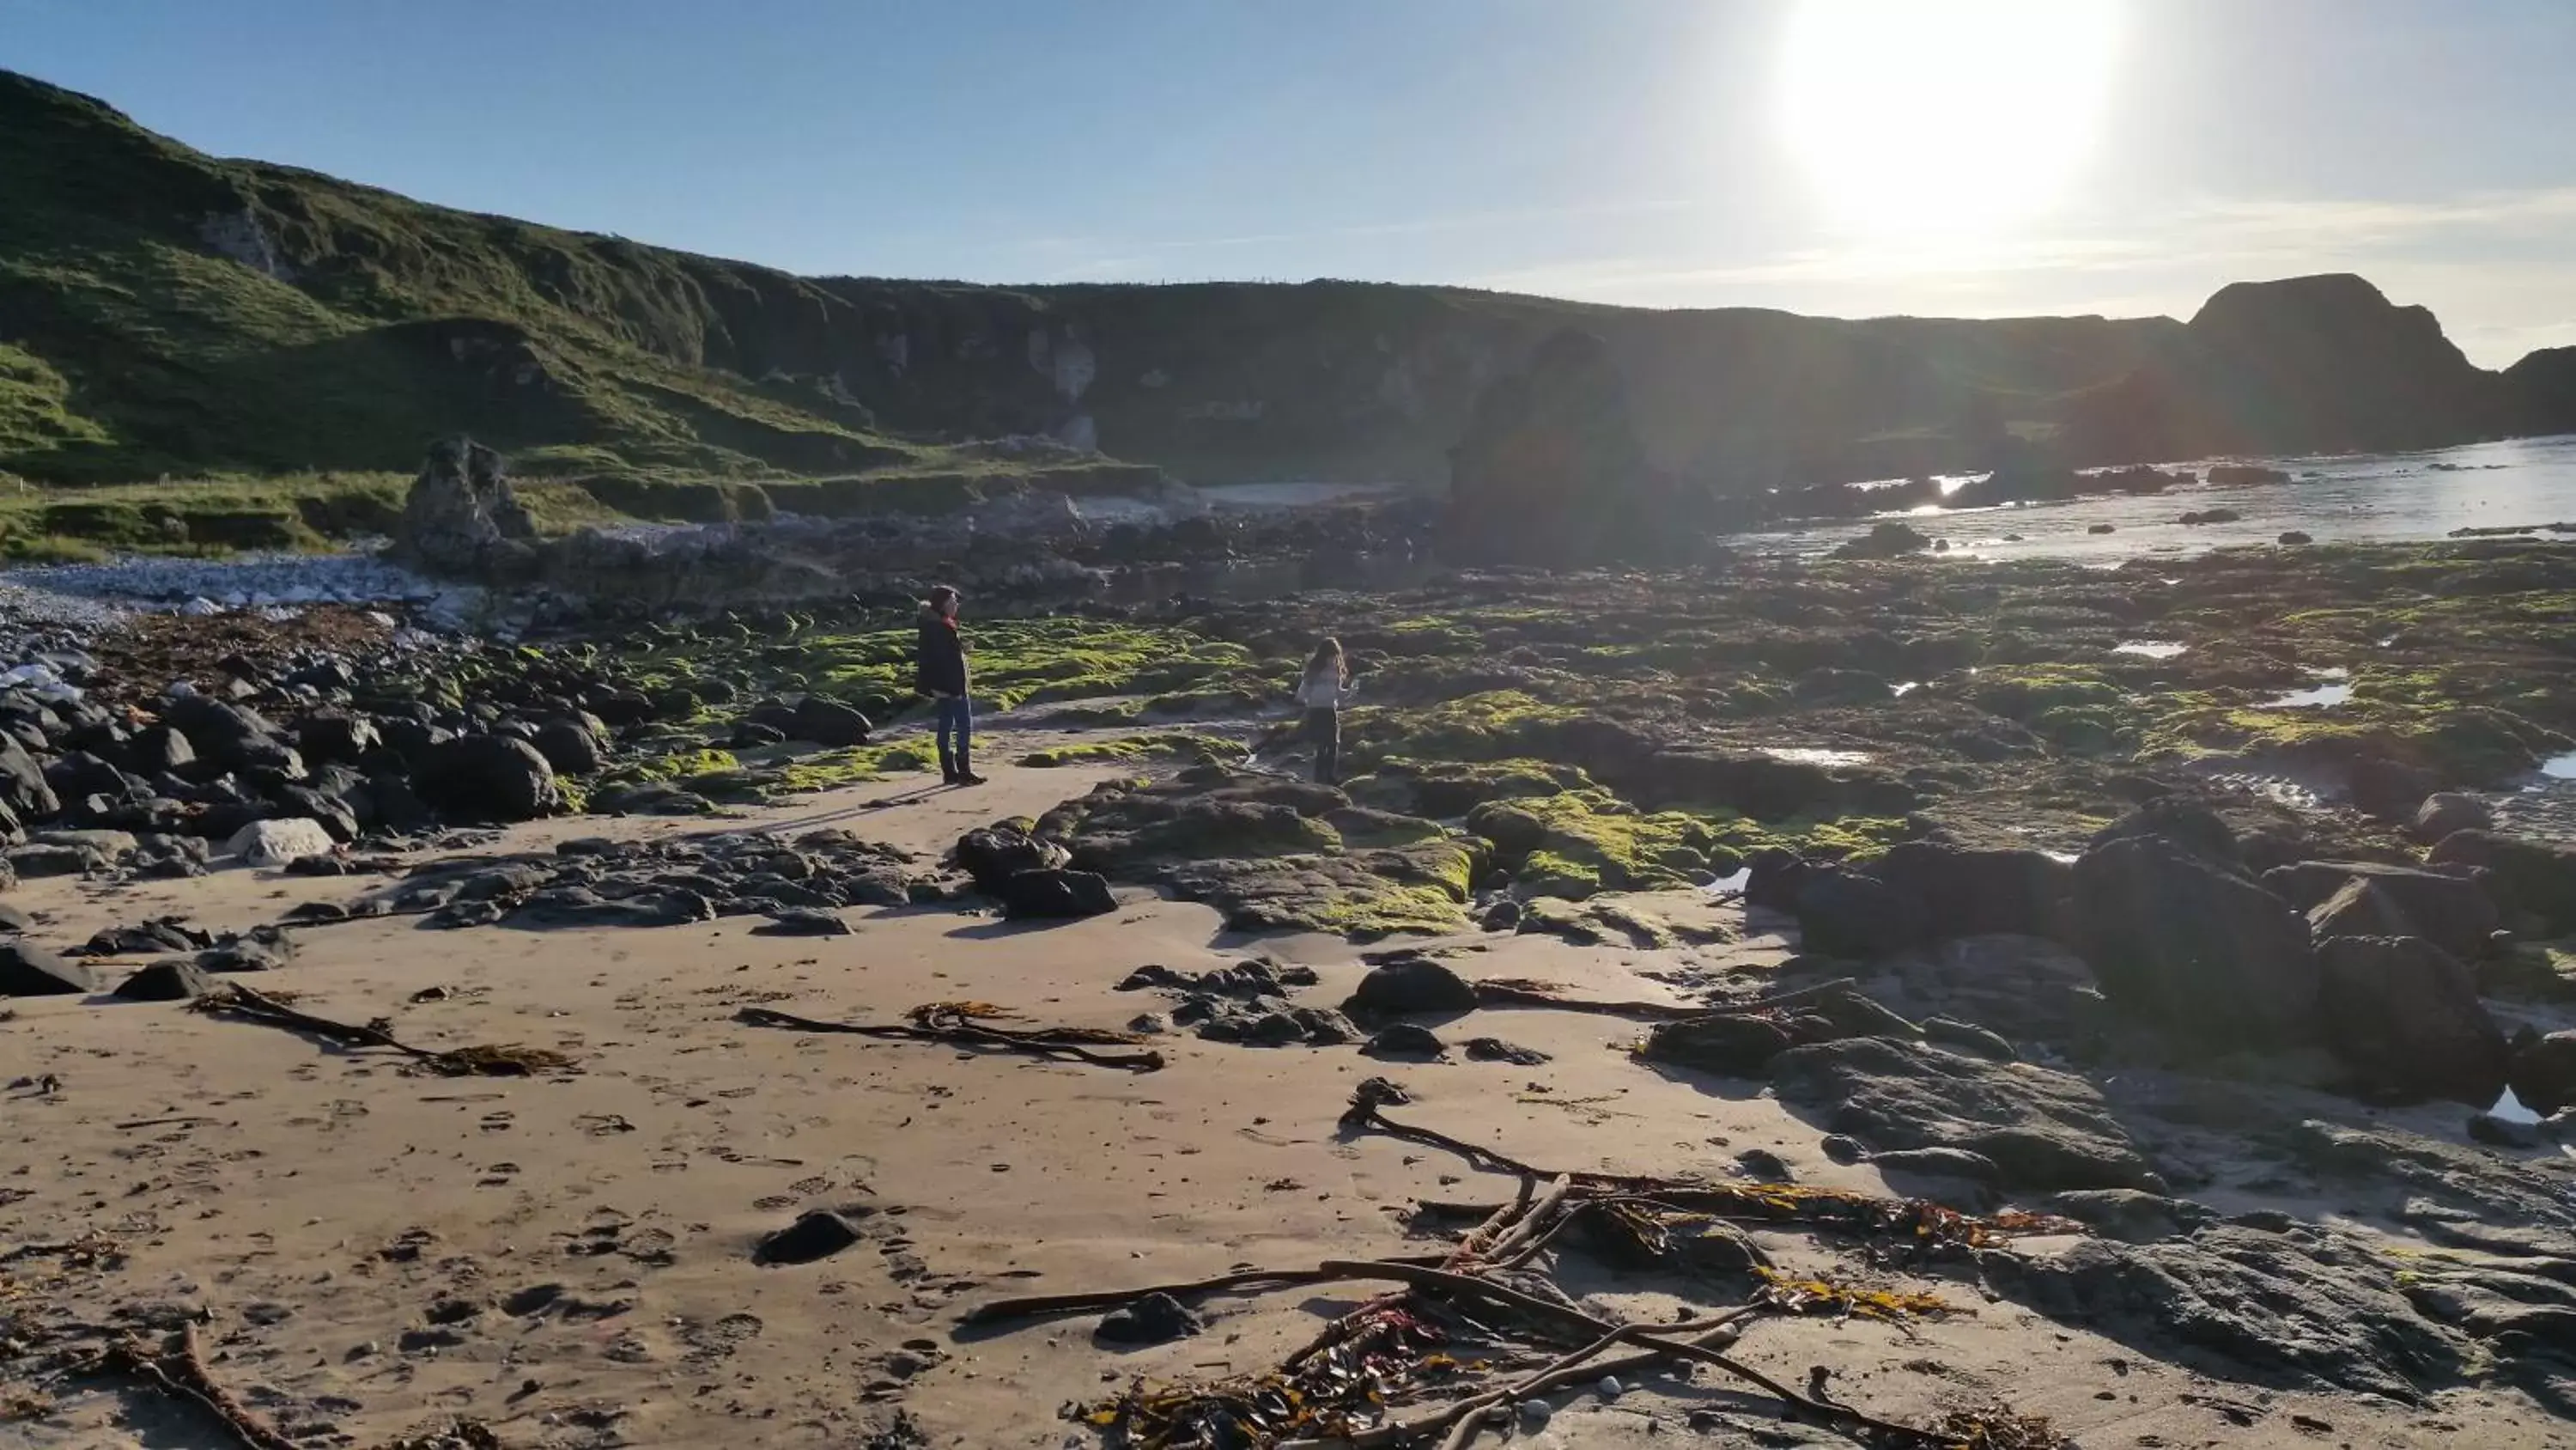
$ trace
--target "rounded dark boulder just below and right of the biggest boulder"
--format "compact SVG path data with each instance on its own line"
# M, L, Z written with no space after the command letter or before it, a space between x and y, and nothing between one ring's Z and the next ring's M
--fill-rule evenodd
M2419 937L2318 945L2326 1046L2370 1082L2486 1107L2504 1092L2504 1033L2478 979Z

